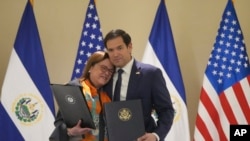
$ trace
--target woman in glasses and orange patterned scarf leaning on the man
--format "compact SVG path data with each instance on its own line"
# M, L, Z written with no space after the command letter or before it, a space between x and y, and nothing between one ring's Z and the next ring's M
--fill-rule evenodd
M104 103L110 102L111 100L107 93L103 91L102 87L108 83L113 72L114 66L111 64L106 52L98 51L89 57L82 76L74 79L67 85L82 86L82 91L92 114L96 129L82 128L80 126L81 120L72 128L66 127L59 109L54 123L56 127L60 127L61 133L59 136L62 135L66 140L77 138L78 141L107 141L102 107Z

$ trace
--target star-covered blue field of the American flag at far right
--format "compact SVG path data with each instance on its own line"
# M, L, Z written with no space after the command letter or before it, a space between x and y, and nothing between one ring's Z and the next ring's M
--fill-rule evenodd
M232 77L233 74L241 74L249 69L245 42L240 25L231 11L223 15L220 27L208 61L207 74L214 77L217 84L224 84L225 81L234 83L238 79Z

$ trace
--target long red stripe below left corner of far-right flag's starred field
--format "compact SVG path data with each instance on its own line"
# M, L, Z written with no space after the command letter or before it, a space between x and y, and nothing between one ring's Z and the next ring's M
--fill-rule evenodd
M218 111L216 110L212 100L208 97L204 89L202 89L201 96L202 96L201 101L203 105L206 107L208 114L210 115L210 118L212 119L214 125L217 128L220 141L226 141L227 137L225 133L223 132Z

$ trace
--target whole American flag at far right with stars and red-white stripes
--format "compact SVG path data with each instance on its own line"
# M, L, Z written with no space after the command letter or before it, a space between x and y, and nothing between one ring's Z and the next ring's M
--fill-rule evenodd
M249 58L229 0L205 71L194 140L227 141L230 124L250 124L249 82Z

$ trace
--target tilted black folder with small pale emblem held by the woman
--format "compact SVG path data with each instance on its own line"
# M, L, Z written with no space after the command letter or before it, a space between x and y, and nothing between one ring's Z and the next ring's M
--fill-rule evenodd
M67 127L71 128L82 120L81 127L96 128L82 87L51 84L51 89Z

